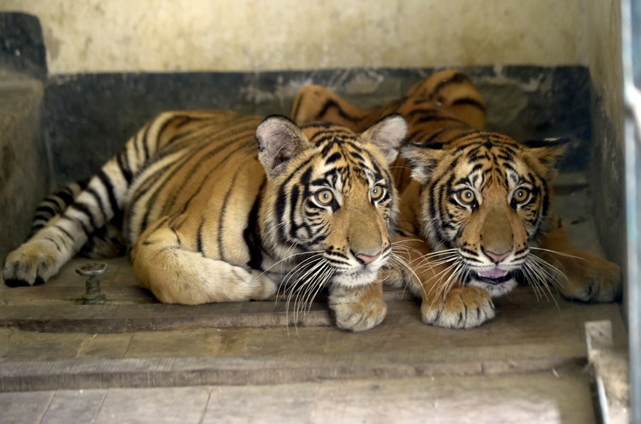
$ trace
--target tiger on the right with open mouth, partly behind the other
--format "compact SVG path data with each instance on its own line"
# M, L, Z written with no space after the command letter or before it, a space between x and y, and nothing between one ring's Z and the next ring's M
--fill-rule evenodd
M484 99L461 71L438 71L371 109L323 86L303 86L291 117L358 131L387 113L401 113L409 125L391 170L400 193L393 243L411 266L390 269L386 278L421 299L424 324L480 326L496 314L492 299L517 282L540 297L551 296L552 285L568 299L619 299L620 267L570 244L553 208L551 181L568 140L518 143L484 130Z

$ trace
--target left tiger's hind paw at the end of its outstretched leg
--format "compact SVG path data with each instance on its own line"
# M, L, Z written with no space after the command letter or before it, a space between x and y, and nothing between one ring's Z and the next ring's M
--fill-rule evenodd
M43 284L61 267L56 245L48 240L23 244L7 255L2 276L10 287Z

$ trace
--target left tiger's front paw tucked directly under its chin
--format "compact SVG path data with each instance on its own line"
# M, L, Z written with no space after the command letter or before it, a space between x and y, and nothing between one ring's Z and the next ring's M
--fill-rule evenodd
M335 284L330 287L329 306L334 311L336 326L349 331L369 330L387 314L380 284L350 288Z

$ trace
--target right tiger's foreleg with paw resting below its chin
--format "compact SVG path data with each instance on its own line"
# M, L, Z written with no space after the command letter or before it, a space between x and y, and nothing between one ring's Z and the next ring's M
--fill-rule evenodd
M415 296L421 298L424 324L469 329L494 318L494 303L489 293L461 284L448 264L430 259L432 252L424 240L397 236L395 245L398 259L405 263L397 271Z

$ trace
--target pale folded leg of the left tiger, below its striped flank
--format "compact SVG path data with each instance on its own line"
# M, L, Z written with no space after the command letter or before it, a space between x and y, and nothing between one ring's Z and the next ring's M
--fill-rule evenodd
M185 249L170 229L138 242L132 267L138 283L167 304L260 300L277 289L261 272Z

